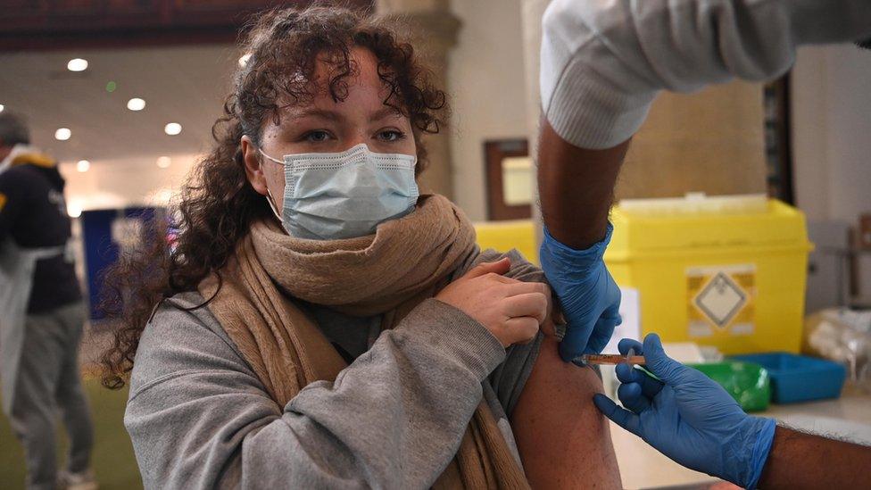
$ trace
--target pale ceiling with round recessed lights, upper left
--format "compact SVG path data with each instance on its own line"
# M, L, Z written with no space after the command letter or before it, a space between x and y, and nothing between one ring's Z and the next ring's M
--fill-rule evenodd
M72 58L86 59L87 70L68 71ZM31 142L61 162L202 153L238 58L232 45L0 54L0 104L23 114ZM145 109L129 111L131 97ZM166 135L169 122L181 134ZM72 137L54 139L58 128Z

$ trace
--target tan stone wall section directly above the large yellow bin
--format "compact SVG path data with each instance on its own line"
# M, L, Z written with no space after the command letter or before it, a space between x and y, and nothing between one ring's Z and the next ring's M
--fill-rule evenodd
M764 119L759 84L660 94L632 138L617 198L764 194Z

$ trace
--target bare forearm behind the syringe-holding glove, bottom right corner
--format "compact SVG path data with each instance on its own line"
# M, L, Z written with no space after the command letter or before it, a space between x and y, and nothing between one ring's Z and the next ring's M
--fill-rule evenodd
M777 427L759 488L871 488L871 447Z

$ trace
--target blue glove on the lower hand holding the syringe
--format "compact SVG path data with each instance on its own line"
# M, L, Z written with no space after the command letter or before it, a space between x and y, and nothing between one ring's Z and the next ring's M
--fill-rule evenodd
M630 348L643 354L645 367L661 381L618 365L618 397L629 410L603 394L593 397L596 407L686 468L755 488L774 441L775 420L744 413L701 371L670 359L656 334L645 337L643 347L624 338L618 348L623 354Z

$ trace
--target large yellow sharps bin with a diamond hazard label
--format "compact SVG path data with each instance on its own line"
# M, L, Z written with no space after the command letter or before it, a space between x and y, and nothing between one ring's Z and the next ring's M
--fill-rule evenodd
M808 241L804 215L763 196L623 201L605 253L638 290L643 334L726 354L799 352Z

